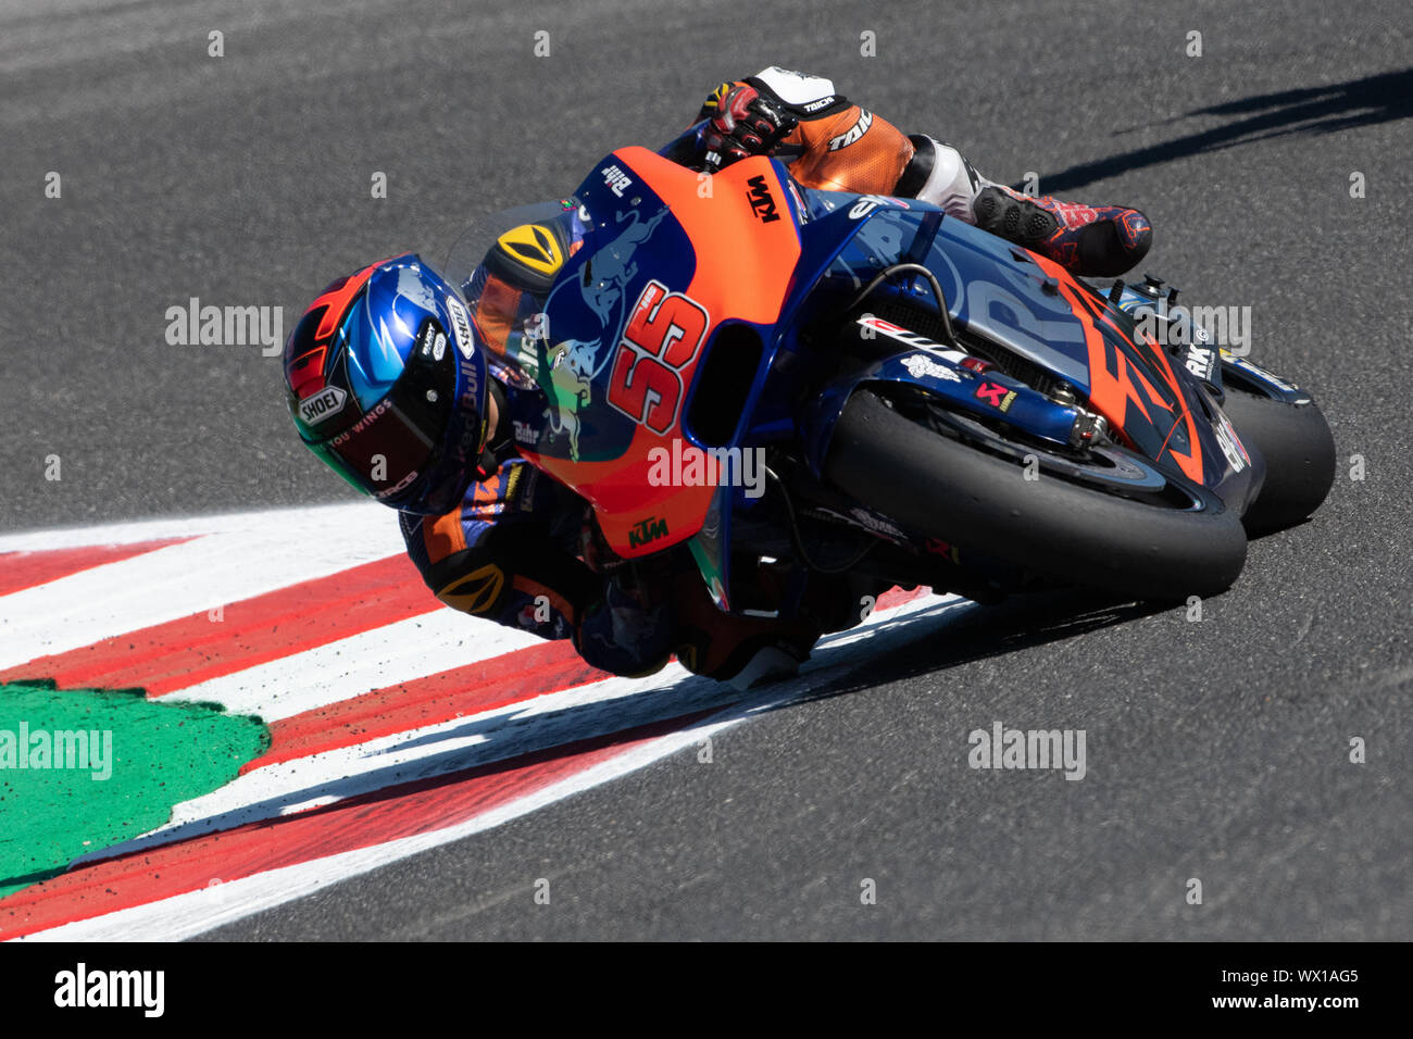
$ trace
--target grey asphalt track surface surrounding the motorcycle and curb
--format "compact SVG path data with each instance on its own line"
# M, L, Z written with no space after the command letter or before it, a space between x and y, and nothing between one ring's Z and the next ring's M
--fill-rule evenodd
M1269 7L0 4L3 530L345 498L295 442L277 362L170 346L165 310L283 305L288 331L333 276L441 256L476 212L567 192L769 64L995 178L1145 209L1143 269L1251 305L1252 356L1313 390L1340 451L1314 522L1253 543L1200 623L1050 597L886 659L865 643L711 763L681 753L213 937L1413 937L1413 14ZM969 769L966 734L998 720L1085 729L1088 775Z

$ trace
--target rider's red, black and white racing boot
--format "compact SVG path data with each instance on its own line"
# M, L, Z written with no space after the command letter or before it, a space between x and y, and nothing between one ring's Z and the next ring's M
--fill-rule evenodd
M1153 245L1153 228L1137 209L1030 198L989 181L950 144L909 137L914 154L896 194L940 205L950 215L1007 242L1033 249L1071 274L1113 277Z

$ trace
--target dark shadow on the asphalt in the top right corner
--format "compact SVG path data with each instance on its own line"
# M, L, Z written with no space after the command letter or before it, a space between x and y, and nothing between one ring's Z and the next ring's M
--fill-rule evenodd
M1106 177L1142 170L1204 151L1291 134L1327 134L1358 126L1388 123L1413 116L1413 69L1348 79L1330 86L1253 95L1241 100L1194 109L1191 116L1232 116L1222 126L1176 140L1150 144L1109 158L1080 163L1068 170L1043 174L1046 194L1064 194ZM1170 120L1177 122L1177 120ZM1017 185L1019 187L1019 185Z

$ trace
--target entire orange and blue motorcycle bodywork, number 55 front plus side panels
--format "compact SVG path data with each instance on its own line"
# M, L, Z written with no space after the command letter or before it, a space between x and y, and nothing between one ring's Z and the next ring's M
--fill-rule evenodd
M1132 318L1058 264L944 219L935 206L801 189L769 158L706 178L636 147L596 164L574 201L588 223L582 245L555 278L538 338L506 356L521 376L510 403L530 431L521 448L591 502L623 557L701 533L692 551L719 605L729 602L731 516L750 503L739 488L649 476L654 448L670 451L674 440L708 447L684 417L698 368L728 324L755 329L760 362L743 373L750 389L732 441L711 447L798 437L818 472L848 394L866 382L913 383L958 409L1067 442L1075 407L991 370L981 379L992 383L989 399L1006 407L988 410L981 379L948 351L899 344L896 353L801 399L817 349L801 331L899 262L923 263L937 277L961 332L1070 382L1121 440L1174 475L1212 486L1229 506L1232 498L1235 507L1245 505L1258 466L1229 424L1228 448L1235 441L1238 451L1217 442L1212 425L1222 417L1194 376L1176 370L1157 344L1135 334ZM885 281L876 295L935 311L921 277ZM660 341L643 339L644 329L657 331L664 305L682 319L666 322ZM671 362L671 379L627 393L639 368L654 360ZM1197 409L1211 424L1195 421Z

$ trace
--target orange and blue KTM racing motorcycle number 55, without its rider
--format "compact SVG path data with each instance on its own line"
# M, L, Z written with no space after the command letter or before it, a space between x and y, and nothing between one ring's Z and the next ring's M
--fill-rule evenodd
M839 574L1214 595L1332 482L1310 394L1200 328L1174 344L1156 278L1094 286L770 157L617 150L468 232L447 274L523 455L612 557L685 546L729 614L788 618ZM787 574L766 598L763 561Z

